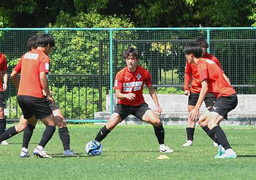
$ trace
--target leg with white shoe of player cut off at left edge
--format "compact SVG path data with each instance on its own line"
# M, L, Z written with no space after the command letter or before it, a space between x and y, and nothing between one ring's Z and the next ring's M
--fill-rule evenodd
M0 92L0 136L6 131L6 119L4 116L4 93ZM0 141L1 145L8 145L6 140Z

